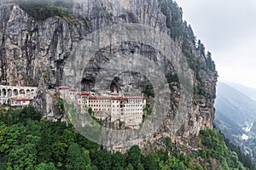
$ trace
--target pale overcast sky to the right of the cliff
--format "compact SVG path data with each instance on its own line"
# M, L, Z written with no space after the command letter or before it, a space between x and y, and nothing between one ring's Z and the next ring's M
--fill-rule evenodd
M176 0L212 53L220 81L256 88L256 0Z

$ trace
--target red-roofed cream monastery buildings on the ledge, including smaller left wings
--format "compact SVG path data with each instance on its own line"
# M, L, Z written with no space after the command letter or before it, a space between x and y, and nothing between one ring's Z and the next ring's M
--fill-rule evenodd
M74 92L74 88L59 87L63 99L75 101L81 108L93 111L93 116L102 121L125 122L128 126L137 126L143 122L143 109L146 97L143 96L96 96L89 92ZM76 94L75 96L73 96Z

